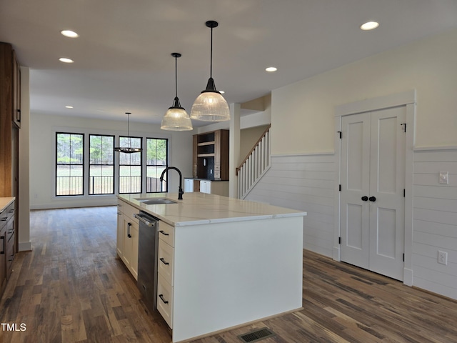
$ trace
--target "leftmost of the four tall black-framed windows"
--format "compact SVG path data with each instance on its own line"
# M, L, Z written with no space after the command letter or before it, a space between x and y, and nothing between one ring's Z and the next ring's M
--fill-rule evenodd
M84 134L56 132L56 196L84 192Z

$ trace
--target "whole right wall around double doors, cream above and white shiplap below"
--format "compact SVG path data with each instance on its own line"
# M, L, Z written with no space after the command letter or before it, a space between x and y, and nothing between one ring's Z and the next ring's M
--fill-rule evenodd
M416 89L416 127L409 128L414 130L415 150L441 147L454 152L428 151L427 161L422 152L414 153L413 213L406 213L413 217L413 285L457 299L457 189L455 184L436 184L438 169L446 168L452 179L457 168L455 56L457 30L274 90L272 166L247 199L307 211L304 246L331 257L336 194L333 179L321 177L327 172L337 177L338 169L328 160L332 155L327 156L335 151L335 107ZM325 163L329 169L323 169ZM438 264L438 249L448 252L447 266Z

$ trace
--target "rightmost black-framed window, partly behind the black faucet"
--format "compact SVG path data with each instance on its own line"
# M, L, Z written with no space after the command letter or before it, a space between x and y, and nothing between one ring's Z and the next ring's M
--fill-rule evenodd
M159 178L168 166L168 139L146 139L146 192L167 192L166 181L163 184Z

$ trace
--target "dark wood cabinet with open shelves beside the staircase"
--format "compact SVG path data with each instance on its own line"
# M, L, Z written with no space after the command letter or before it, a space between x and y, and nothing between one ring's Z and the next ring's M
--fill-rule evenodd
M194 135L193 177L229 180L229 130Z

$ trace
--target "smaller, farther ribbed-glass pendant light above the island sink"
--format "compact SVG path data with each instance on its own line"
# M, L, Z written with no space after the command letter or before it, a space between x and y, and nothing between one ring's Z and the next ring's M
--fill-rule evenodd
M189 117L189 114L187 114L186 110L181 107L178 99L178 57L181 57L181 54L174 52L171 56L174 56L175 60L174 71L176 96L174 97L173 106L169 107L168 111L166 111L160 128L162 130L170 131L189 131L193 129L191 118Z

